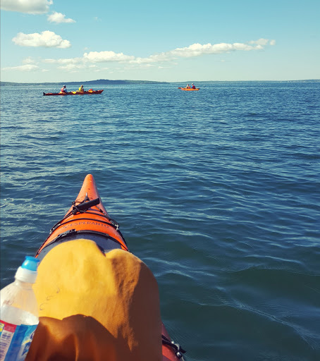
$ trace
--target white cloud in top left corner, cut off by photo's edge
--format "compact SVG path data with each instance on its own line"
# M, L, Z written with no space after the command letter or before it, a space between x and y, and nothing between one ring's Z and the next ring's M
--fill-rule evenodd
M1 9L18 13L43 14L49 11L52 0L1 0Z

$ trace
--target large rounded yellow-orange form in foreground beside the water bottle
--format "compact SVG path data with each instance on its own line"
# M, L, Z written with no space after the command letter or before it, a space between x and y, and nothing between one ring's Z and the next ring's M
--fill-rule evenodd
M25 361L161 361L159 290L132 253L61 242L38 267L39 325Z

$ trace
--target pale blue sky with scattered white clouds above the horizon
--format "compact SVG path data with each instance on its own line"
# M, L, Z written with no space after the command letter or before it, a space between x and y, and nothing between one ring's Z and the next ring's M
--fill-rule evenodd
M1 0L1 81L320 79L319 0Z

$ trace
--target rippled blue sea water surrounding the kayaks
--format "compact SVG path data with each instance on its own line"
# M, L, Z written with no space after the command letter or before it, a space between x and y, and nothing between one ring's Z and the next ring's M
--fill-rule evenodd
M320 360L320 82L181 85L1 87L1 288L92 173L186 360Z

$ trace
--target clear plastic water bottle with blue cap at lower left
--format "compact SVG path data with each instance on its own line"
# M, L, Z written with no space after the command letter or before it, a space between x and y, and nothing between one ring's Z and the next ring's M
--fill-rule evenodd
M25 360L39 324L32 284L37 278L35 257L25 257L15 281L0 291L0 361Z

